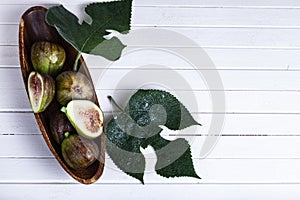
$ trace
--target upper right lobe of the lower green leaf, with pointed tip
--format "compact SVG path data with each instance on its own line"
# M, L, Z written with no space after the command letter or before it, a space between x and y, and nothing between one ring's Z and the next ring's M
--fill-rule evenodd
M155 122L171 130L200 125L172 94L161 90L138 90L129 100L128 112L140 126Z

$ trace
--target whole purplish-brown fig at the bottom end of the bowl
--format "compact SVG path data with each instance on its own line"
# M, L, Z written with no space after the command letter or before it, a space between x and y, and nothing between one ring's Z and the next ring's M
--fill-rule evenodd
M99 148L93 140L76 134L64 139L61 150L64 160L73 169L84 169L95 162L99 156Z

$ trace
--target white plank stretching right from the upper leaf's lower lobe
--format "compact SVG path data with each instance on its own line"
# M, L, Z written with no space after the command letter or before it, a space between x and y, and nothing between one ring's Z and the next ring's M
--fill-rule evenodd
M168 34L159 32L160 29L166 29ZM298 48L299 31L297 28L133 27L131 33L120 38L129 47L195 46L186 41L190 39L203 48ZM153 37L156 32L157 36ZM187 39L176 41L179 38L176 34Z

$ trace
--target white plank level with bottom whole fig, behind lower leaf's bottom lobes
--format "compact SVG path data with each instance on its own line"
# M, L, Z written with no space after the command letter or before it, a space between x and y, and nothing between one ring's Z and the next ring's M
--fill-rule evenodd
M174 134L174 133L173 133ZM194 159L208 136L168 136L170 140L185 138L190 142ZM209 159L300 159L299 136L221 136ZM143 150L147 158L156 156L151 148ZM6 158L54 158L41 135L0 135L0 159Z

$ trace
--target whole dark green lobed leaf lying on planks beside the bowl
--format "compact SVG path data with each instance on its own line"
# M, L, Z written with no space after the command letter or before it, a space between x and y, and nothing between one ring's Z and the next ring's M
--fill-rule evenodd
M161 137L161 125L180 130L199 125L188 110L168 92L139 90L129 100L125 111L106 126L107 153L128 175L143 183L145 158L140 148L152 146L157 155L156 172L164 177L199 178L185 139L168 141Z

